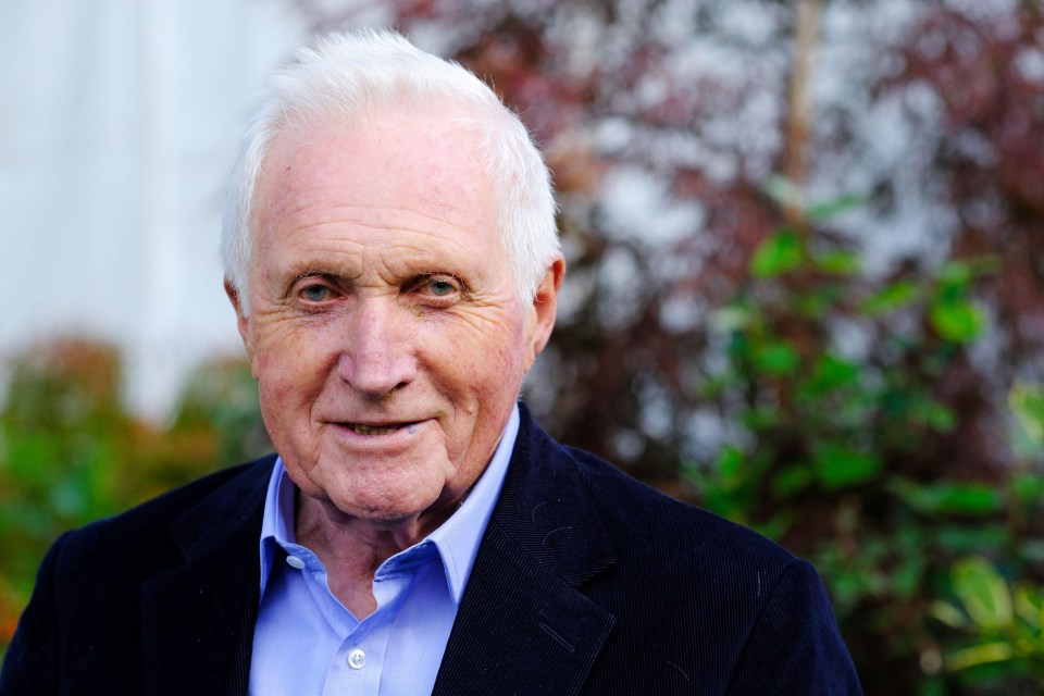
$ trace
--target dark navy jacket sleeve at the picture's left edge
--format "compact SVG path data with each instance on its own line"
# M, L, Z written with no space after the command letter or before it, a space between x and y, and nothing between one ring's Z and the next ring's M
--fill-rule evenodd
M0 696L58 693L60 635L54 574L65 538L63 535L51 546L40 564L29 605L18 619L0 669Z

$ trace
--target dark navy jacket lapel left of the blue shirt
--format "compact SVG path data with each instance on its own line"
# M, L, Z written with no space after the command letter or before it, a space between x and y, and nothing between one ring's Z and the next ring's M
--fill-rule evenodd
M142 587L146 693L247 693L272 462L254 464L171 525L185 563Z

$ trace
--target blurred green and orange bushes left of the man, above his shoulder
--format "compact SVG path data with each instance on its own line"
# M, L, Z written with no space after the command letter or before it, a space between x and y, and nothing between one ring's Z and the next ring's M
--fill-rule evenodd
M167 428L126 412L111 347L61 339L10 368L0 410L0 652L60 533L269 448L243 361L200 366Z

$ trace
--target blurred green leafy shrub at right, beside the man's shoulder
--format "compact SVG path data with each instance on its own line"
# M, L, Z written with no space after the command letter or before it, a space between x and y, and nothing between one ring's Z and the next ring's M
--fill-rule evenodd
M790 206L799 200L779 182L773 190ZM813 561L861 671L912 660L925 693L950 693L979 682L940 671L931 656L956 637L927 619L930 608L943 606L949 567L965 555L1044 560L1035 536L1044 531L1032 526L1044 485L1032 475L949 471L933 456L959 450L974 415L948 400L946 386L971 369L968 349L989 330L975 293L992 260L873 276L816 226L856 203L813 206L804 227L781 228L755 250L748 281L712 322L726 366L700 393L738 427L711 467L689 463L685 473L703 505ZM1020 451L1044 460L1044 390L1019 385L1011 406ZM965 561L956 568L968 607L979 576ZM1019 591L1021 606L1037 606L1034 592ZM999 610L996 597L990 606ZM981 602L970 609L979 620ZM998 649L995 636L979 638L945 663Z

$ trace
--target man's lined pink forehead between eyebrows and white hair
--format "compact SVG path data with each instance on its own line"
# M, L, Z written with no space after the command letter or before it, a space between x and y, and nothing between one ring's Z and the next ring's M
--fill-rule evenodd
M495 234L497 201L468 114L382 110L352 122L285 128L273 139L256 191L252 226L302 210L430 216ZM380 222L380 221L378 221Z

